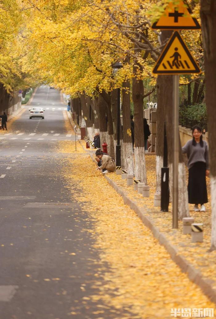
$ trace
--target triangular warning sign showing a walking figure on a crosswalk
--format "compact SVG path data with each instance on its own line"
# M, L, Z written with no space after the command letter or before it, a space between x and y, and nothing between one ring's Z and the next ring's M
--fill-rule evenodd
M175 31L162 51L153 73L190 74L201 73L178 31Z

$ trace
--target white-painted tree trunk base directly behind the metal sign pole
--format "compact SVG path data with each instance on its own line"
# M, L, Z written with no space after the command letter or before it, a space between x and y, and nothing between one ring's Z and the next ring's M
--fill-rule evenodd
M169 164L169 189L172 201L173 174L172 164ZM188 190L186 185L185 166L184 163L178 163L178 218L189 217L188 207Z

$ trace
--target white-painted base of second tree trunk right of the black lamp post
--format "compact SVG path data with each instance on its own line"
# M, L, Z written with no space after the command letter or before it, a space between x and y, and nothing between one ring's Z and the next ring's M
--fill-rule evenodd
M147 185L145 148L134 147L135 177Z

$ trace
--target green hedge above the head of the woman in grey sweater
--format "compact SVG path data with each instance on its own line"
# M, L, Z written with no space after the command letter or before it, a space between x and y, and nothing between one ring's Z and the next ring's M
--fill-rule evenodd
M196 104L179 107L179 123L182 126L192 128L199 125L207 131L207 111L205 104Z

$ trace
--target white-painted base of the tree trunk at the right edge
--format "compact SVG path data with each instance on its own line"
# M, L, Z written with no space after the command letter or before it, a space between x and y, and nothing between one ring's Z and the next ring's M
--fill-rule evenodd
M211 176L212 237L211 250L216 249L216 176Z

